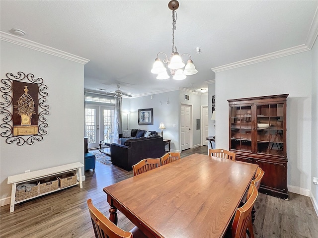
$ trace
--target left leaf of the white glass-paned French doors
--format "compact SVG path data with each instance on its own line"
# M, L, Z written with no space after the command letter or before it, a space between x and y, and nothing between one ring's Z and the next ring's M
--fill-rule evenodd
M88 138L88 149L99 146L99 108L97 106L85 107L84 136Z

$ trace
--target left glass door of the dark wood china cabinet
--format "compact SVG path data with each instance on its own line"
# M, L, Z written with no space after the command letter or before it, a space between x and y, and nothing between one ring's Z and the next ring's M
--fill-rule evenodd
M252 151L252 106L231 107L231 149Z

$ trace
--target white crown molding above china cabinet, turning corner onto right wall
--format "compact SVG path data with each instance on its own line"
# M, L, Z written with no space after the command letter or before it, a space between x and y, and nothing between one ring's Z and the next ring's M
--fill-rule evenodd
M211 70L213 72L217 73L217 72L221 72L221 71L225 71L225 70L229 70L229 69L233 69L233 68L246 66L246 65L249 65L249 64L253 64L253 63L262 62L262 61L265 61L265 60L273 60L273 59L276 59L276 58L280 58L280 57L284 57L284 56L289 56L289 55L293 55L293 54L309 51L314 46L314 43L315 43L315 40L317 39L317 37L318 37L318 7L316 9L312 24L310 26L310 29L309 29L305 44L299 45L299 46L295 46L295 47L291 47L291 48L288 48L288 49L285 49L285 50L281 50L281 51L276 51L276 52L269 53L269 54L266 54L266 55L257 56L257 57L250 58L250 59L247 59L247 60L240 60L240 61L237 61L237 62L234 62L234 63L221 65L221 66L218 66L218 67L211 68Z

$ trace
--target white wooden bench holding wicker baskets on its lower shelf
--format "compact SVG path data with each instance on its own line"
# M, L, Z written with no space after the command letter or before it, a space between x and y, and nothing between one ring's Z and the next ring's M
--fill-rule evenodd
M55 192L55 191L61 189L61 188L58 188L57 190L42 193L42 194L39 194L37 196L26 198L26 199L21 200L21 201L15 201L15 191L16 191L17 184L32 181L32 180L37 180L37 179L43 179L46 177L51 177L54 175L59 175L59 174L63 174L63 173L71 172L71 171L76 171L76 176L78 178L78 182L76 184L71 185L71 186L79 184L79 187L82 188L82 186L83 186L82 179L81 179L81 168L82 167L84 167L84 165L82 163L77 162L77 163L73 163L73 164L67 164L67 165L57 166L57 167L53 167L53 168L48 168L48 169L44 169L44 170L32 171L30 173L9 176L8 177L8 184L12 183L10 212L14 211L14 205L17 203L24 202L24 201L27 201L29 199L35 198L35 197L40 197L40 196L43 196L43 195L46 195L48 193ZM64 188L62 188L62 189L64 189Z

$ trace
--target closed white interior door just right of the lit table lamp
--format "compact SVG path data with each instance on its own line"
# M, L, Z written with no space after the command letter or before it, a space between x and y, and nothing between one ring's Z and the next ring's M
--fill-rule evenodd
M191 138L191 106L181 104L180 110L180 131L181 131L181 150L190 148Z

